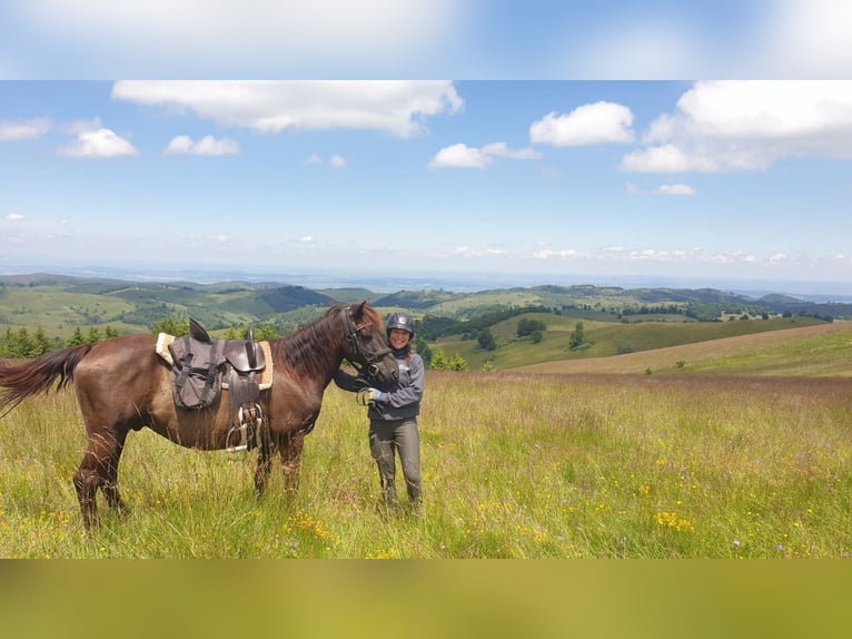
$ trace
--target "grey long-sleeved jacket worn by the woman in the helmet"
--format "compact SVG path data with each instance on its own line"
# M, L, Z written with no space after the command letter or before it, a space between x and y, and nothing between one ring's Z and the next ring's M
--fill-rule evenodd
M377 385L363 374L349 375L344 371L338 371L335 374L335 384L344 391L354 393L365 386L382 391L382 400L370 402L367 411L367 416L370 420L407 420L420 414L420 400L423 400L425 381L423 357L412 352L406 362L404 352L395 352L395 355L396 363L399 365L399 381L396 384Z

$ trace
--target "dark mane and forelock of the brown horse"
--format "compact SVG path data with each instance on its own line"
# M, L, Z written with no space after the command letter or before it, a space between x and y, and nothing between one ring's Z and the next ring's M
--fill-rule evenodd
M317 352L328 350L329 335L335 322L340 322L340 311L349 304L336 304L326 311L318 320L303 326L293 335L269 341L273 361L295 371L320 377L326 371L323 360ZM382 315L371 306L364 305L363 325L368 330L382 326Z

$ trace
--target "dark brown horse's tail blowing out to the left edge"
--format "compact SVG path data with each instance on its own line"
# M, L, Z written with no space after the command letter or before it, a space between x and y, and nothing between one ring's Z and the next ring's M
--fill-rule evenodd
M73 381L73 371L89 351L91 344L71 346L46 353L23 363L0 364L0 417L27 397L47 393L59 379L57 390Z

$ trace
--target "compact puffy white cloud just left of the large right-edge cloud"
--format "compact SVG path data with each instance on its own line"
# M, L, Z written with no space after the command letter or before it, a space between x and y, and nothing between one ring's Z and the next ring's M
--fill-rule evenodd
M529 127L533 144L558 147L634 140L633 112L623 105L595 102L567 115L547 114Z

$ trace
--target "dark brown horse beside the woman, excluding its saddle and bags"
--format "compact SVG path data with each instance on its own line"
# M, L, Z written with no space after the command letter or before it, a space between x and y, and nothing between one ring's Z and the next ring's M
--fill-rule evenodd
M377 383L396 381L380 314L365 299L338 304L287 337L269 340L274 381L260 391L264 436L258 438L257 497L264 494L271 460L280 455L285 490L297 491L305 435L319 416L323 395L344 360L367 367ZM0 362L0 417L24 399L73 382L88 445L73 475L86 530L99 525L97 491L119 512L118 465L130 431L151 429L188 449L229 446L231 424L225 392L207 409L176 405L170 365L156 352L157 337L132 334L71 346L24 361ZM58 382L58 383L57 383Z

